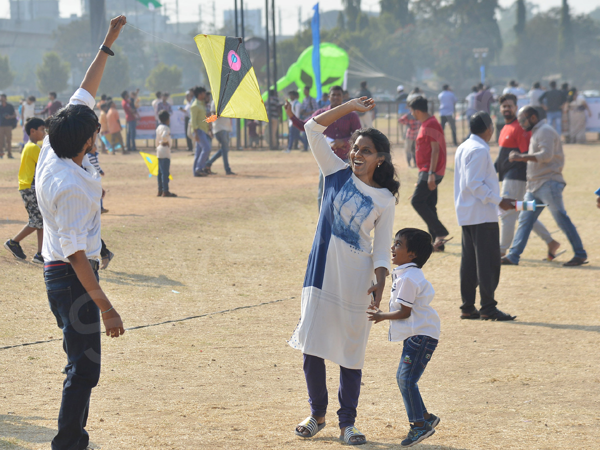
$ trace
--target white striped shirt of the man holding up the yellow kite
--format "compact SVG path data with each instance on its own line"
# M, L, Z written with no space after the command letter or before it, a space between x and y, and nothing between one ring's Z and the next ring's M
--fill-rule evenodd
M79 88L69 104L94 107L94 97ZM79 167L70 158L59 158L48 136L44 138L35 171L37 199L44 219L41 254L45 261L68 262L76 251L100 260L100 175L83 157Z

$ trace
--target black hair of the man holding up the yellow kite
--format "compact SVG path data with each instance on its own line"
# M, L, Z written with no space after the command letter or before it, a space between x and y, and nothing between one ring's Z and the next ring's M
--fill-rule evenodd
M76 157L98 128L98 116L83 104L68 104L50 118L50 145L59 158Z

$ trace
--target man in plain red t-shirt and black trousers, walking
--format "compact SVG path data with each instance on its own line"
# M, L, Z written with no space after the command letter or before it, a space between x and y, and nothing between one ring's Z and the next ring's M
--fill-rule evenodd
M427 98L416 97L408 104L410 113L421 122L416 137L416 166L419 178L413 193L413 208L427 224L436 251L444 251L448 230L437 218L437 185L446 171L446 139L440 122L427 110Z

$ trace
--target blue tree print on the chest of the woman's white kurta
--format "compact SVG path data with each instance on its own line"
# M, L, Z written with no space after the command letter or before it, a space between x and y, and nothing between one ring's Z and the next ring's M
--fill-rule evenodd
M373 211L373 199L359 191L350 178L334 199L332 235L356 250L364 250L361 248L359 230L371 211Z

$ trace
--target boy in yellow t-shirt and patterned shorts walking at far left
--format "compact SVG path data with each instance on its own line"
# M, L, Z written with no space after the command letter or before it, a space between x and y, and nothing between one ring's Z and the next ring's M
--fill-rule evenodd
M44 263L44 258L41 256L41 244L44 235L44 224L38 208L37 197L35 196L35 166L40 156L40 147L37 142L44 139L46 136L46 128L44 121L37 117L27 119L25 122L25 131L29 137L29 142L23 147L21 152L21 166L19 167L19 193L25 203L25 209L29 215L28 223L20 230L19 234L13 239L8 239L4 243L6 248L14 257L26 259L25 253L19 242L26 236L31 235L34 231L37 232L38 245L37 253L32 261L35 263Z

